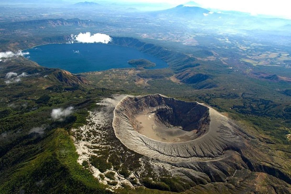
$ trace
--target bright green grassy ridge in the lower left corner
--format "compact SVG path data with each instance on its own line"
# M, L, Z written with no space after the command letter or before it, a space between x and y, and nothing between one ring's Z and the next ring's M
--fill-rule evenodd
M44 151L15 167L0 193L110 193L76 161L73 141L65 129L54 129L40 142Z

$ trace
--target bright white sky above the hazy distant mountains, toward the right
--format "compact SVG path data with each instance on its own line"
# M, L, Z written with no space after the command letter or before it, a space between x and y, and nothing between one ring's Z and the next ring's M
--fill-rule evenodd
M111 0L107 0L111 1ZM184 4L189 0L112 0L115 2L147 2L147 3L170 3L173 6ZM252 15L263 14L291 19L290 0L196 0L203 8L235 10Z

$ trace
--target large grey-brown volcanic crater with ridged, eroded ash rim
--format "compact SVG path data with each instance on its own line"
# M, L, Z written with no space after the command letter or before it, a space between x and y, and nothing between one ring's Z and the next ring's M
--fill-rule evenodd
M159 94L125 97L112 124L126 147L164 161L219 160L241 146L235 125L213 108Z

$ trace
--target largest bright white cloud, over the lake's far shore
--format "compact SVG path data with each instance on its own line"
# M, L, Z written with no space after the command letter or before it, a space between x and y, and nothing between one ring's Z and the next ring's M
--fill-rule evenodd
M107 34L96 33L96 34L91 35L90 32L86 32L86 33L79 33L79 35L75 35L74 40L76 40L77 42L83 42L83 43L101 42L104 44L108 44L108 42L112 41L112 38Z

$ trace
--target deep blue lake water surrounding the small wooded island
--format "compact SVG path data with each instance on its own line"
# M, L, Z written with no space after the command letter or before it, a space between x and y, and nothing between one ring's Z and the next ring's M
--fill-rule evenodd
M136 49L116 45L95 43L50 44L31 49L30 60L50 68L60 68L71 73L102 71L113 68L130 68L127 63L131 59L144 58L157 64L150 69L168 67L167 63L157 57L145 54Z

